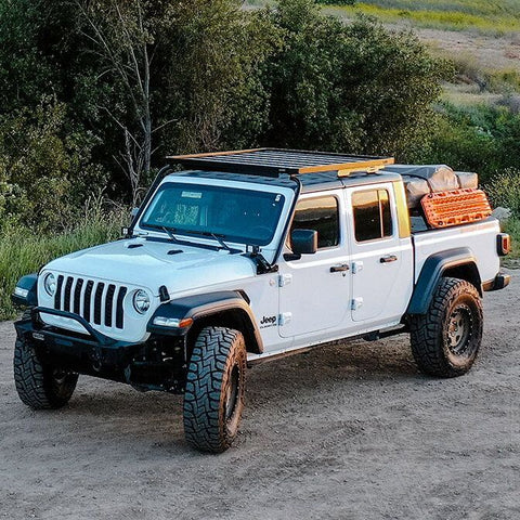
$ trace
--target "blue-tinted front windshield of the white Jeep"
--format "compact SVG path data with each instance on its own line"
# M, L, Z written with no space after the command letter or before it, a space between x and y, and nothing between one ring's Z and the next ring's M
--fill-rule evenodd
M284 202L280 193L169 182L155 194L140 226L265 246L273 239Z

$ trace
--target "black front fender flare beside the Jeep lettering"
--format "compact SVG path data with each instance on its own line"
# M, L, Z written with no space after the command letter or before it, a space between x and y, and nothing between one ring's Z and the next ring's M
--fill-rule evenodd
M197 324L219 315L233 316L242 325L248 352L257 354L263 352L262 337L249 306L249 299L240 290L221 290L186 296L164 303L150 320L147 330L160 336L186 336ZM178 320L179 322L193 320L193 324L186 327L169 327L155 324L157 317Z

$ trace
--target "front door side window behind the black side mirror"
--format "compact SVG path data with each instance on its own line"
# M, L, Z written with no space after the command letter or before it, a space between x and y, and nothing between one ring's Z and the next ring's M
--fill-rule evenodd
M301 200L296 206L292 230L317 231L317 248L339 244L339 211L335 197Z

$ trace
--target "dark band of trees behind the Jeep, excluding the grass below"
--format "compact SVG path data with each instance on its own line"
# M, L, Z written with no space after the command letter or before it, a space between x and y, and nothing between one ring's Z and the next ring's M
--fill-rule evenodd
M240 4L0 0L0 205L13 208L12 186L29 193L30 176L58 172L74 207L92 190L86 177L103 171L107 193L135 204L176 153L422 150L442 67L413 35L367 18L344 25L313 0ZM43 131L46 117L54 125ZM39 139L54 143L47 166ZM22 155L41 167L24 159L16 170ZM55 222L51 213L39 218Z

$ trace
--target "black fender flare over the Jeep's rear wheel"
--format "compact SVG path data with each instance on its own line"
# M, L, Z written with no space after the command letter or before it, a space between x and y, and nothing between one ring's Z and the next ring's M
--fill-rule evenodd
M447 249L427 258L415 284L406 314L426 314L441 277L448 271L456 272L457 269L459 271L464 269L466 274L464 280L472 283L482 296L482 281L471 249L469 247Z

